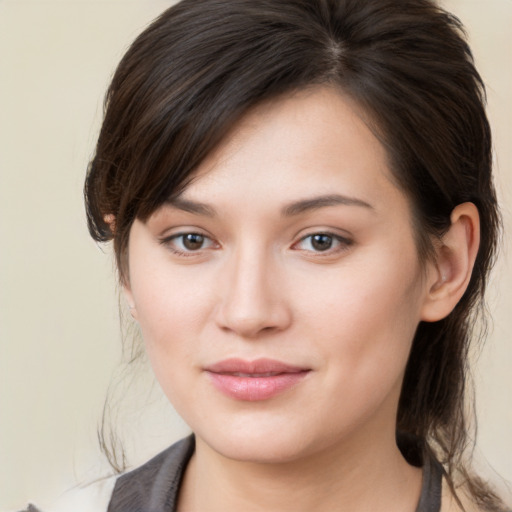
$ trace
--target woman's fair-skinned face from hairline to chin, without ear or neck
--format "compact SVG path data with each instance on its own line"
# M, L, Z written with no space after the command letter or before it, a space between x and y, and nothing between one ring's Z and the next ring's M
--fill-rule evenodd
M126 293L156 377L234 459L394 439L426 287L384 149L327 88L251 111L130 233Z

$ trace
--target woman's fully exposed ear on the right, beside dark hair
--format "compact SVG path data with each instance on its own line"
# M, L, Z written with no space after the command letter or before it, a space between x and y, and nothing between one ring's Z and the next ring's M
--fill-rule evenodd
M473 203L458 205L450 220L436 249L436 263L428 273L421 315L425 322L437 322L453 311L468 287L480 245L480 216Z

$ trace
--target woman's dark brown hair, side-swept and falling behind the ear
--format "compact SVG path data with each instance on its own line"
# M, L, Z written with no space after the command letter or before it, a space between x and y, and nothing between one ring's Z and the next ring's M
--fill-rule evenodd
M397 430L434 450L450 482L462 472L491 510L492 493L460 461L468 347L500 225L491 134L463 28L433 1L183 0L168 9L132 44L108 90L85 185L89 230L113 240L124 279L135 218L180 192L248 109L321 84L354 99L385 145L423 259L455 206L471 201L480 213L465 295L444 320L418 326Z

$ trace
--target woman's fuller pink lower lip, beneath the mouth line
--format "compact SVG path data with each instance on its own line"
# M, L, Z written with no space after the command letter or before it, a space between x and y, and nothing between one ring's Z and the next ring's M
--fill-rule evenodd
M268 400L293 388L306 377L309 371L280 373L270 377L239 377L224 373L207 373L213 385L228 397L256 402Z

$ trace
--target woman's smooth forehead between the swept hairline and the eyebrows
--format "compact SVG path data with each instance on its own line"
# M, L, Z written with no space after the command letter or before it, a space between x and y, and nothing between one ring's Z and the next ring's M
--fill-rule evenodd
M388 156L349 98L317 87L249 111L201 163L182 199L266 203L342 194L376 209L402 192Z

